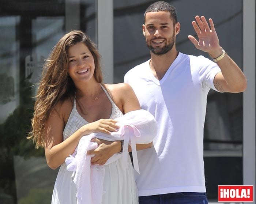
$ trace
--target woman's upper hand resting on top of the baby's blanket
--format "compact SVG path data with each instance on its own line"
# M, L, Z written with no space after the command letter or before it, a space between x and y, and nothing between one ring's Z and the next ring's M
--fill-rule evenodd
M89 135L93 132L110 134L110 132L117 132L116 129L120 127L116 125L116 123L117 121L112 119L100 119L95 122L90 122L82 127L84 129L83 134Z

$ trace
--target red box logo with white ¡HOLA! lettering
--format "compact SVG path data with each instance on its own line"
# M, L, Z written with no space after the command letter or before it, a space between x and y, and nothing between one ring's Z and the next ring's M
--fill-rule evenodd
M253 186L218 186L218 202L253 202Z

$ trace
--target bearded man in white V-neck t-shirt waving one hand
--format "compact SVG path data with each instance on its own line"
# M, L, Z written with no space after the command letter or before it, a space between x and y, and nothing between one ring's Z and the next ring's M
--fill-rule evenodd
M203 127L210 88L242 92L246 78L219 45L212 19L192 22L198 41L188 38L203 56L176 50L180 32L176 10L164 1L151 4L142 26L151 59L127 72L142 109L155 116L158 133L153 148L138 151L140 175L135 172L140 204L206 204Z

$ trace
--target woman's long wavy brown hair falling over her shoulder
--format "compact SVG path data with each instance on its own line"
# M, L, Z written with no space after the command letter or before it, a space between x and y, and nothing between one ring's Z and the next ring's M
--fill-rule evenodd
M45 146L45 122L59 102L75 97L75 84L68 75L68 48L83 42L93 54L95 71L94 78L102 83L100 55L95 44L82 31L74 30L65 34L53 47L43 70L42 79L34 106L32 131L27 139L33 139L35 147Z

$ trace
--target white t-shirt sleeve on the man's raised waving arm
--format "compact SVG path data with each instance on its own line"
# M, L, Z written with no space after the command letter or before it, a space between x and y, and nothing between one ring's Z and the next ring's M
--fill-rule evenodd
M202 84L203 89L212 88L215 91L218 91L214 86L214 78L218 72L221 72L217 63L209 60L204 56L199 56L199 79ZM221 91L218 91L221 92Z

